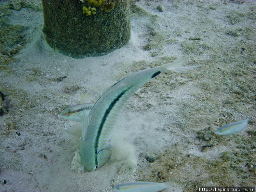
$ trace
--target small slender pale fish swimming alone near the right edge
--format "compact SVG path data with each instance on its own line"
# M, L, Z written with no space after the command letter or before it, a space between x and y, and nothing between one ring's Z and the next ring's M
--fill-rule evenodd
M238 122L235 122L235 123L230 123L230 124L225 125L223 127L219 127L215 131L215 134L217 134L217 135L231 135L231 134L234 134L234 133L239 133L247 125L248 119L238 121Z

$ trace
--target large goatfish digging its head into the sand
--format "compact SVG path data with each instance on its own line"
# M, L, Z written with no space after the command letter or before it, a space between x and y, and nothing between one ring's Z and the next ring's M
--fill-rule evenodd
M109 159L114 124L125 102L140 88L165 71L184 73L198 66L183 67L187 58L130 74L102 93L89 115L82 112L81 163L88 171L102 167Z

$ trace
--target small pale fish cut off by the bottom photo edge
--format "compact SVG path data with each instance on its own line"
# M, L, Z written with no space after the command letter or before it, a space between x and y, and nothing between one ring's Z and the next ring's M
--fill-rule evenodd
M154 182L130 182L130 183L122 183L113 187L112 191L118 192L155 192L160 191L162 189L174 187L173 182L166 183L154 183Z

